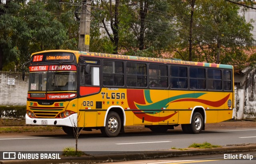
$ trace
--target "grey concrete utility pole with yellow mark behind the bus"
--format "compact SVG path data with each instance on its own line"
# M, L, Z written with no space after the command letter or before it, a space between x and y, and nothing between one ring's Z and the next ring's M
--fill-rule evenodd
M91 21L91 0L82 2L82 11L80 16L80 30L78 49L89 52L90 46L90 21Z

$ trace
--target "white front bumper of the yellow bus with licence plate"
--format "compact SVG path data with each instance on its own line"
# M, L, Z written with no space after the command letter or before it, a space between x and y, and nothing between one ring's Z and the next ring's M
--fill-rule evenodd
M77 113L72 114L66 118L30 118L26 114L26 125L73 127L77 125Z

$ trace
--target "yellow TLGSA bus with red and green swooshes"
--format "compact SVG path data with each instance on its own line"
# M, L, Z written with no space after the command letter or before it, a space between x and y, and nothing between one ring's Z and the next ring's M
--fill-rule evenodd
M31 55L26 124L198 134L233 117L233 66L175 59L48 50Z

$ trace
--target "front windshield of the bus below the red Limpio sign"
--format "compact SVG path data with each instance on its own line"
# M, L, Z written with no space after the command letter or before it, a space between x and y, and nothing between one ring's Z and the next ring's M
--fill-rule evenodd
M29 91L75 91L76 72L31 72Z

